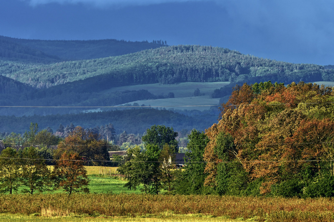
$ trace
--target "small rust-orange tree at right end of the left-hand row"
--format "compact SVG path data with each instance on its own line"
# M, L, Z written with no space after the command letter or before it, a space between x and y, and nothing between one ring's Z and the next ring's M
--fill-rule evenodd
M63 153L52 171L55 189L64 189L68 195L76 192L89 193L87 171L77 153Z

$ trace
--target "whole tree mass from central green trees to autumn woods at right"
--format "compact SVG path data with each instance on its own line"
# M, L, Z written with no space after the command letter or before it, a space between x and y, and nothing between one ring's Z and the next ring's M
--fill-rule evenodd
M311 83L237 86L219 123L189 134L183 170L171 170L177 135L161 126L119 169L126 187L146 193L333 197L333 98L331 87Z

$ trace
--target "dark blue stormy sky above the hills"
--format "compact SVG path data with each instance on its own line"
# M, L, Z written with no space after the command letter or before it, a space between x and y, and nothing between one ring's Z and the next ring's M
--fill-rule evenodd
M0 35L166 40L334 65L332 0L0 0Z

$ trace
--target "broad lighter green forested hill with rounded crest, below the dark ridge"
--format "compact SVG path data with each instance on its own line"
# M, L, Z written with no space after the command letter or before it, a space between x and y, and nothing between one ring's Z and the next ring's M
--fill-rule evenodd
M37 88L77 80L112 86L175 82L331 81L334 70L244 55L229 49L180 45L132 54L54 64L0 62L0 73Z

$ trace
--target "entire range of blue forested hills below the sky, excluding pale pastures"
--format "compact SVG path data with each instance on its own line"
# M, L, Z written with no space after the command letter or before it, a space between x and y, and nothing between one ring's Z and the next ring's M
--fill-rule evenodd
M96 122L104 125L107 123L104 121L108 120L119 124L120 131L126 129L131 133L142 133L150 124L175 124L178 129L192 129L195 126L205 129L212 125L217 115L213 118L210 114L208 120L209 115L206 113L195 113L188 118L174 112L158 112L154 109L145 109L145 112L136 110L137 116L132 116L133 110L78 113L88 109L80 106L111 106L163 96L154 95L146 89L131 90L131 85L230 82L223 90L220 89L220 94L216 95L219 98L230 95L231 88L236 83L252 84L268 80L284 83L334 81L332 66L275 61L211 46L161 46L166 44L162 44L162 41L148 43L122 40L22 40L0 36L0 104L32 106L3 107L0 114L6 117L0 116L0 125L3 126L1 130L11 131L11 121L15 122L16 131L21 132L22 121L29 123L33 120L45 126L56 127L62 119L77 122L79 125L91 121L90 126ZM129 48L132 53L121 54L128 53ZM119 55L111 56L115 55L112 53ZM68 61L71 59L65 58L76 60ZM109 90L116 86L127 86L129 89ZM191 87L189 89L195 90ZM170 95L174 95L173 92L170 92ZM216 112L213 109L211 111ZM60 115L65 113L71 115ZM57 115L39 117L36 114ZM161 116L162 114L165 116ZM185 111L185 114L188 115L188 111ZM21 117L16 118L13 115ZM120 117L121 115L126 116ZM153 115L156 118L151 121ZM7 118L8 116L12 118ZM133 120L139 118L150 121L145 123L146 125L138 126ZM127 126L124 127L124 124Z

